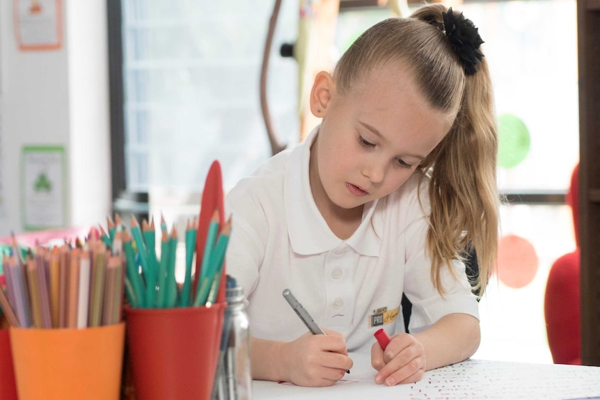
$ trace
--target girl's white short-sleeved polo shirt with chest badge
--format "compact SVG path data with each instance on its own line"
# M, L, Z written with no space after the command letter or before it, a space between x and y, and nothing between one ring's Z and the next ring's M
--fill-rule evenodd
M365 205L363 221L349 239L331 232L313 200L308 180L310 145L306 141L269 159L242 179L226 197L232 215L227 273L244 287L251 334L289 342L307 332L282 296L289 288L315 322L345 335L348 351L368 351L373 333L404 332L400 301L413 310L411 333L445 314L479 318L464 264L443 269L445 296L431 280L425 250L427 181L417 197L413 175L387 198Z

